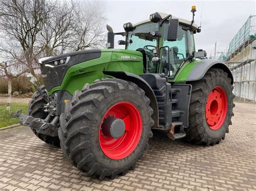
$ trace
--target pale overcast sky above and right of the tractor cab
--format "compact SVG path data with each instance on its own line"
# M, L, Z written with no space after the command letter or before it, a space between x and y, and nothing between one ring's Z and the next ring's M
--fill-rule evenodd
M191 6L197 6L196 24L201 33L195 35L196 49L205 49L214 55L214 44L217 51L225 51L228 44L246 22L250 15L256 15L256 1L100 1L109 19L107 24L114 32L122 32L123 24L138 23L149 19L156 11L170 13L187 20L192 19ZM201 11L203 4L203 11ZM256 24L256 23L255 23ZM122 39L116 36L116 40ZM122 46L123 47L123 46ZM116 48L119 48L116 46Z

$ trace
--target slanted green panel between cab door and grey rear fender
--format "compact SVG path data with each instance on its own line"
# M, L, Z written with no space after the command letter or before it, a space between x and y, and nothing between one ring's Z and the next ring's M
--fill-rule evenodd
M194 66L197 65L199 61L194 60L192 62L186 61L184 65L179 69L178 73L174 77L174 79L169 80L170 82L186 82L188 75L190 75L191 70Z

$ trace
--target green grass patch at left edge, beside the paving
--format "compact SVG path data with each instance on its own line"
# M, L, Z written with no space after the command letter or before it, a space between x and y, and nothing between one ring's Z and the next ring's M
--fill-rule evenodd
M0 102L0 128L4 126L14 125L19 122L18 118L12 118L6 110L7 103ZM21 109L23 114L28 110L28 103L11 103L11 111L16 112Z

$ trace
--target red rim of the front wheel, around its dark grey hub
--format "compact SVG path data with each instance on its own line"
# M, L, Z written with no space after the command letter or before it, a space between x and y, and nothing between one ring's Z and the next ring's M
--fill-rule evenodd
M114 116L125 123L125 132L122 137L114 139L106 137L102 131L104 120ZM119 102L107 110L99 128L99 145L103 153L111 159L123 159L136 148L142 135L142 117L138 108L130 102Z

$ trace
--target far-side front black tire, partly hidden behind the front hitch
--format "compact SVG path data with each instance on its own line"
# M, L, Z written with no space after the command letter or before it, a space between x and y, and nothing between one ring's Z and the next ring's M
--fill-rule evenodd
M43 93L45 93L45 87L40 87ZM31 100L29 101L29 107L28 107L28 115L33 116L36 118L45 119L48 116L47 112L44 112L44 104L47 102L44 100L44 98L36 91L33 95ZM48 135L43 135L41 133L37 133L36 130L32 129L33 133L35 135L43 140L45 143L48 143L53 146L59 146L59 138L58 137L51 137Z

